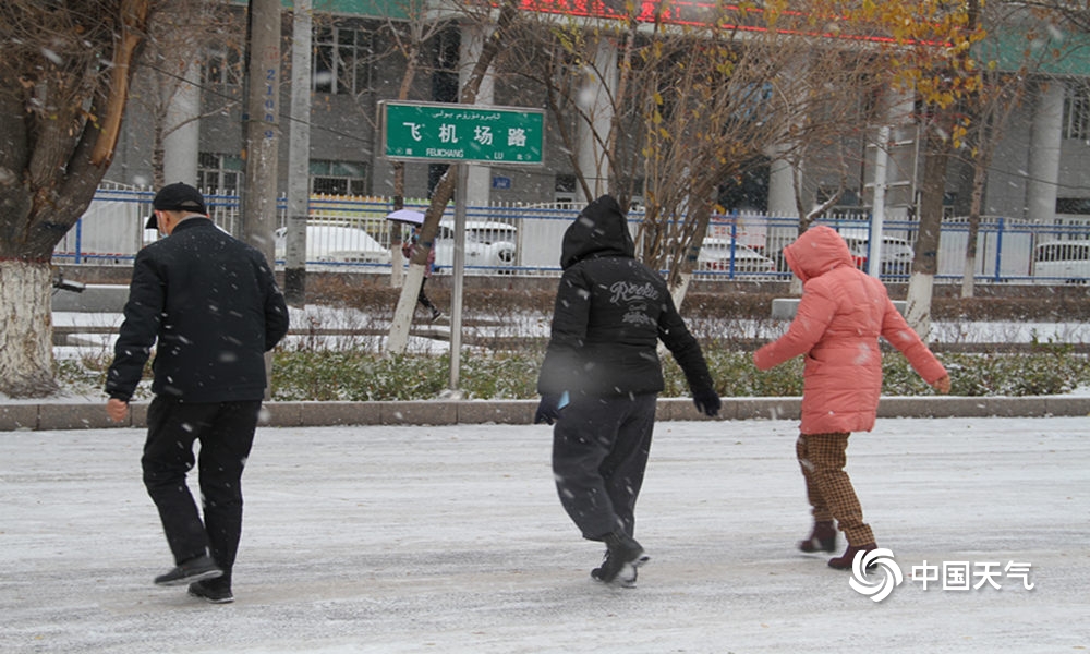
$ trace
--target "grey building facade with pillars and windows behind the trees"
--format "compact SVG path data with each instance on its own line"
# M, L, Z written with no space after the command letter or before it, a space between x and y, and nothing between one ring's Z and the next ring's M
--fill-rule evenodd
M283 2L284 73L280 85L280 107L290 106L292 85L287 62L291 61L292 2ZM681 3L685 4L685 3ZM235 7L240 31L244 31L243 5ZM332 0L315 8L312 32L312 63L308 75L310 121L280 118L279 189L288 186L288 143L291 132L310 132L310 190L314 194L391 196L393 167L382 157L380 126L377 124L378 102L398 98L399 87L409 65L387 29L389 21L405 22L403 7L397 2L363 3ZM475 61L488 25L481 22L451 19L427 39L416 61L417 73L412 80L409 100L457 101L459 88L465 82L469 66ZM189 68L186 78L170 101L172 116L168 120L182 125L166 137L164 171L166 181L190 181L209 192L237 192L243 182L244 130L241 100L243 76L240 45L209 45L204 49L199 65ZM593 80L586 89L586 101L600 101L616 83L617 53L608 39L594 46L596 69L606 74ZM1033 222L1090 220L1090 58L1075 55L1061 62L1042 65L1034 71L1024 101L1015 108L1002 128L995 156L985 186L983 214ZM1014 68L1014 64L1010 64ZM512 80L517 75L500 71L482 85L479 104L530 106L545 108L544 92L528 88ZM138 96L140 87L134 90ZM152 92L147 92L152 93ZM907 109L904 101L908 102ZM922 173L921 135L910 118L911 99L891 102L900 109L892 111L888 121L892 144L880 165L874 147L877 125L851 144L859 153L848 189L837 204L839 210L869 214L873 210L875 187L882 185L884 207L892 218L915 215L919 202ZM284 112L286 113L286 112ZM608 120L606 110L595 113L596 120ZM140 102L130 105L126 129L107 179L124 184L149 185L154 180L153 148L155 118ZM555 134L556 116L548 116L548 132ZM579 130L579 121L565 126ZM540 168L474 167L470 175L470 205L492 203L547 204L583 202L577 191L570 153L562 150L560 140L547 132L545 165ZM602 168L601 144L593 138L579 140L577 153L580 167L597 185L593 194L606 191L608 172ZM437 183L445 166L441 164L408 162L405 165L407 197L426 197ZM877 177L884 169L883 177ZM753 208L758 205L773 214L795 214L796 174L790 166L777 161L768 153L765 166L755 169L741 199L751 206L725 206L725 209ZM823 170L821 158L802 166L809 197L803 205L820 204L831 187L833 175ZM961 216L968 213L972 174L966 164L956 159L950 166L946 213Z

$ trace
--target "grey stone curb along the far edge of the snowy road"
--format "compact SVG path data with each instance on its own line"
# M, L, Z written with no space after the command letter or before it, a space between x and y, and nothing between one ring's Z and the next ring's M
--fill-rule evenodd
M106 416L106 400L0 403L0 432L119 426ZM687 398L658 400L658 421L798 420L800 398L724 398L718 419L699 414ZM531 424L537 400L415 400L407 402L266 402L270 427L337 425ZM121 426L144 427L147 402L134 402ZM1044 417L1090 415L1090 396L884 397L879 417Z

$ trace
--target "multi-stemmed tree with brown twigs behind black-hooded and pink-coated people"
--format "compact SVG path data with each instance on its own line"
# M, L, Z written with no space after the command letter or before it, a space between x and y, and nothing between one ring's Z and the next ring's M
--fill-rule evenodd
M680 301L723 181L770 149L798 161L807 147L859 131L844 107L860 101L873 53L777 22L771 11L705 9L702 22L685 25L677 17L670 3L650 14L629 5L613 21L538 17L520 38L525 62L514 68L544 87L588 199L596 171L580 165L584 134L605 157L622 206L642 193L641 259L669 270ZM618 51L615 82L585 55L602 40ZM586 109L586 77L607 81L608 128ZM843 160L840 169L846 174Z

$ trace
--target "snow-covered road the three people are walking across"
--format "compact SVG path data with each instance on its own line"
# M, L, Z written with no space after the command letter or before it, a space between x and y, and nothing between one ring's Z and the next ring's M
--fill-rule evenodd
M0 433L0 651L1085 651L1088 426L886 419L853 436L848 471L904 572L877 603L794 549L795 421L657 426L631 590L589 578L601 548L560 509L548 427L263 427L223 606L152 584L171 561L143 431ZM912 579L946 580L943 564L948 588ZM959 569L980 588L955 590Z

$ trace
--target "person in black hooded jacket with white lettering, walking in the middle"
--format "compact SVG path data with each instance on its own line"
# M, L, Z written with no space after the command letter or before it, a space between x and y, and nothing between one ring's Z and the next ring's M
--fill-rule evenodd
M658 340L685 372L699 411L717 415L719 396L666 282L635 261L616 199L600 197L568 227L560 266L534 422L556 422L553 473L560 502L584 538L606 544L591 577L632 585L649 558L632 535L664 388Z

